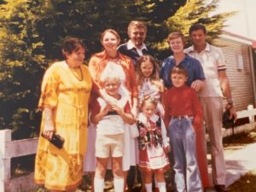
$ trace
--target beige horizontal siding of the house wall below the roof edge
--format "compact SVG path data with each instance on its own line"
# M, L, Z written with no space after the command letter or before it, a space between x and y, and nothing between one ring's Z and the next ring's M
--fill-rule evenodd
M236 111L247 109L247 105L254 104L249 52L251 46L226 38L220 38L219 44L224 45L221 49L224 52L227 66L226 73L230 79L230 89L232 91ZM237 67L237 55L242 56L243 69L238 69ZM225 104L226 101L224 101L224 106Z

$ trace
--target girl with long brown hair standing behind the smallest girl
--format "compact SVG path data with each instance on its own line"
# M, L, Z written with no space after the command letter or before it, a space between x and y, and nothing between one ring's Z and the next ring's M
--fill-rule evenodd
M137 61L137 85L139 101L153 96L157 102L156 113L164 116L164 108L161 103L161 95L164 92L164 84L159 77L159 67L154 57L143 55Z

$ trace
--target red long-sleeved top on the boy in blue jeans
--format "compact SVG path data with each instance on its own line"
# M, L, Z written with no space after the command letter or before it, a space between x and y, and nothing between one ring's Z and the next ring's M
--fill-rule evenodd
M183 85L172 87L164 93L165 125L168 127L172 116L193 116L193 125L196 129L201 127L202 108L194 89Z

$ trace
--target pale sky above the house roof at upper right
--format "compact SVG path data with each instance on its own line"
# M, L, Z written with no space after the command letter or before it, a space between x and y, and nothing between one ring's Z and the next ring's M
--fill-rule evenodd
M256 40L256 0L220 0L218 13L238 11L228 18L224 30Z

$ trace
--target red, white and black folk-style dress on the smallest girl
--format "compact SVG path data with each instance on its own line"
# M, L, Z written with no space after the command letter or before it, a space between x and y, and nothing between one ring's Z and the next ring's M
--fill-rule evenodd
M164 147L169 145L166 126L156 114L147 118L139 113L137 128L139 131L139 168L142 172L165 172L170 168Z

